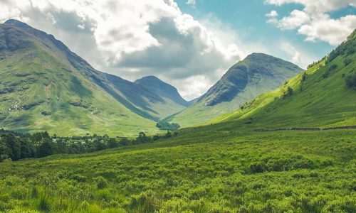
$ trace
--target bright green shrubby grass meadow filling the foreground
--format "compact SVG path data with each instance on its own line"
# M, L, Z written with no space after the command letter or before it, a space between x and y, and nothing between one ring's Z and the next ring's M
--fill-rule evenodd
M355 136L208 126L155 143L1 163L0 212L354 212Z

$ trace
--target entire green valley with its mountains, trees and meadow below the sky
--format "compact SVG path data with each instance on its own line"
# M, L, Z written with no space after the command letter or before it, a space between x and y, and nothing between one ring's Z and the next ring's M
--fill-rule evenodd
M251 53L188 102L0 25L0 212L355 212L356 32L302 70Z

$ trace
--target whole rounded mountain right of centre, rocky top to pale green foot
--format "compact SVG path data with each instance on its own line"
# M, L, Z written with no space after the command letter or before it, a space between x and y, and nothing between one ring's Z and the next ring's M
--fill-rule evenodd
M271 55L253 53L231 67L195 104L166 121L194 126L239 109L240 104L276 89L303 70Z

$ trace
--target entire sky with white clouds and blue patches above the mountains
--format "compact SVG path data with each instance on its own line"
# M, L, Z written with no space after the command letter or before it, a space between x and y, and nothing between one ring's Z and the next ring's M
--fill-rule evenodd
M0 0L95 69L135 81L155 75L191 100L251 53L302 68L356 28L356 0Z

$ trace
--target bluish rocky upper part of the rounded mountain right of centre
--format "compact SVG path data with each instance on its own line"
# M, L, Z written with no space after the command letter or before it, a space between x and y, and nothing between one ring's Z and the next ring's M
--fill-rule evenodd
M199 98L198 102L214 106L222 102L231 102L239 97L239 94L250 91L250 94L240 97L241 102L246 102L258 94L278 88L282 82L301 71L297 65L280 58L264 53L252 53L231 67L219 82ZM251 85L258 85L258 88L248 89Z

